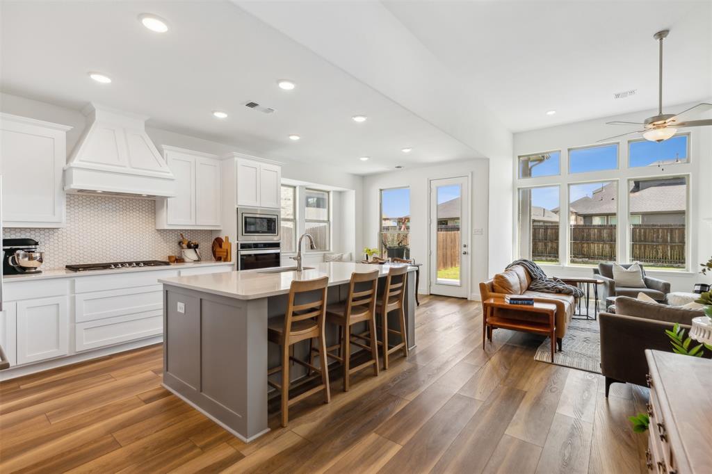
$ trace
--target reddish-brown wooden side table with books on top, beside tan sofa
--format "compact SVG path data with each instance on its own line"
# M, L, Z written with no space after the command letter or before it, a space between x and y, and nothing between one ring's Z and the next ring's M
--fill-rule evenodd
M551 339L551 362L554 362L556 352L556 305L553 303L534 302L533 305L511 305L504 298L489 298L482 302L482 349L485 348L485 335L492 340L492 329L502 329L534 332L535 334L549 336ZM543 315L540 321L515 320L508 317L495 316L496 308L511 311L535 312Z

